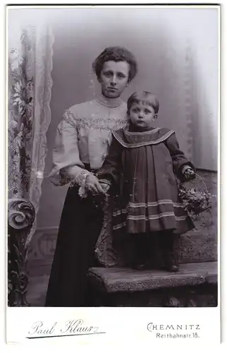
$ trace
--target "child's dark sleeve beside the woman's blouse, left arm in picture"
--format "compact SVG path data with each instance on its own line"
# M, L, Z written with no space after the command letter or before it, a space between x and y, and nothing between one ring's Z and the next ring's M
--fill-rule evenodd
M118 184L121 172L121 151L123 147L113 135L112 138L109 153L96 174L97 178L106 182L106 184Z

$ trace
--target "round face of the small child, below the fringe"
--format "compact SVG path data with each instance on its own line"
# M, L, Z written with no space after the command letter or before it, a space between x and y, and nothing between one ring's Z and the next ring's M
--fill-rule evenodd
M153 121L157 117L154 108L146 103L133 103L129 112L130 121L139 128L148 128L152 126Z

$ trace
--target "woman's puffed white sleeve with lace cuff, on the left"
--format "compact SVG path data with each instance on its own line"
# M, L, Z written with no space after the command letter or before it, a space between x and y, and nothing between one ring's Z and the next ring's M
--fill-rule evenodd
M68 109L57 127L53 149L53 169L49 178L56 186L68 184L70 181L75 181L81 186L89 174L84 168L78 149L77 122L75 115Z

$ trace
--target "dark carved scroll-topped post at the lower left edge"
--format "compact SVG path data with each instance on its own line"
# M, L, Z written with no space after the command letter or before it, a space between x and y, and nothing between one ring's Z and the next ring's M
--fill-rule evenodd
M27 237L35 208L23 198L8 199L8 306L29 306L27 294Z

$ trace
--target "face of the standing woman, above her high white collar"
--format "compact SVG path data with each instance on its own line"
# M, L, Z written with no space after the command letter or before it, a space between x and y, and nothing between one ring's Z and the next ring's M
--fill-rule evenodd
M130 65L126 61L105 61L99 77L102 95L117 98L128 84Z

